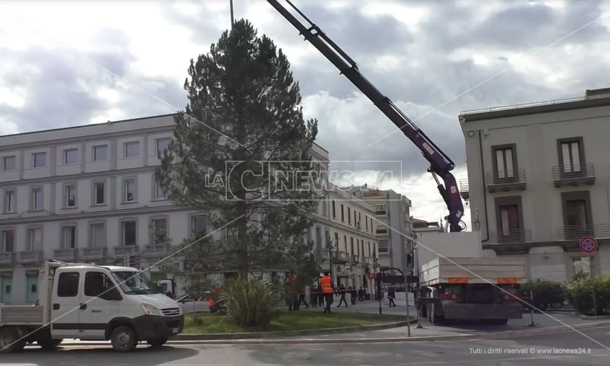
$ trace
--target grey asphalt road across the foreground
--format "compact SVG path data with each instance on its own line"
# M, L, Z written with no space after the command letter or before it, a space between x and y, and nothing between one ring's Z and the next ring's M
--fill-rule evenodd
M197 345L138 348L118 354L107 346L58 351L29 348L0 356L2 366L608 366L610 327L512 340L355 343L346 345Z

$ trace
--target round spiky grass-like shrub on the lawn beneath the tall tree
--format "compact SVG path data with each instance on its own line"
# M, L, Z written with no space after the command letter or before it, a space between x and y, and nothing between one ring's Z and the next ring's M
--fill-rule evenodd
M232 278L224 287L221 299L225 301L227 316L235 325L267 329L275 314L273 284L257 278Z

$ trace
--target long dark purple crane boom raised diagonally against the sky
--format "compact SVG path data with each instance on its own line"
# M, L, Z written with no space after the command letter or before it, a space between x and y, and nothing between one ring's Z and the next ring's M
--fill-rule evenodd
M267 0L292 26L303 35L332 65L339 69L340 73L354 84L358 90L370 99L375 106L381 110L387 118L392 121L403 134L411 140L422 151L423 157L430 163L428 171L436 181L440 195L447 205L449 215L446 217L449 231L462 231L461 219L464 216L464 204L459 193L456 178L451 174L455 163L443 152L426 134L413 123L387 96L383 95L375 85L364 77L357 63L346 54L334 41L331 40L321 29L316 26L306 15L301 12L290 0L285 0L309 26L303 24L292 13L280 4L278 0ZM439 181L439 177L443 183ZM444 185L443 185L444 184Z

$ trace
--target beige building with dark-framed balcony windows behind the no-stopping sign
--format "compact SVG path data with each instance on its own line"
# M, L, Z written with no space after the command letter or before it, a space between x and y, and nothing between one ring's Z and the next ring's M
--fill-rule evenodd
M531 278L610 271L610 88L461 113L473 227L485 255L528 258ZM579 249L597 239L592 257Z

